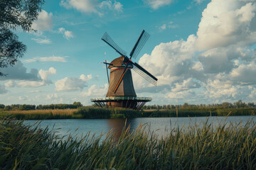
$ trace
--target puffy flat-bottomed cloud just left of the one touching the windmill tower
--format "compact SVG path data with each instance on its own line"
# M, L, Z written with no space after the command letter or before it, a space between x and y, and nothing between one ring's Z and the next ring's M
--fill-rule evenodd
M87 86L86 81L92 79L92 75L85 76L82 74L80 78L77 77L65 77L55 82L56 91L82 91Z

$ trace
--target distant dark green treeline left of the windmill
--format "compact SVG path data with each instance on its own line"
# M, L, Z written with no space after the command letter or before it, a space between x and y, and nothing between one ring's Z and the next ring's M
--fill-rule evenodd
M80 102L74 102L73 104L50 104L50 105L28 105L28 104L12 104L6 105L0 104L0 108L4 111L31 111L31 110L46 110L46 109L67 109L67 108L79 108L82 104Z

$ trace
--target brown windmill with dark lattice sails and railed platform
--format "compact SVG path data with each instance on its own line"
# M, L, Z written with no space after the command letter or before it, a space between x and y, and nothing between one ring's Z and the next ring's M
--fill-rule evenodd
M131 69L134 69L140 76L156 86L157 79L152 74L146 71L137 62L132 62L133 59L139 55L142 47L149 39L149 34L145 30L142 30L141 35L135 43L132 51L127 56L127 52L122 50L113 40L107 32L102 36L102 40L105 41L110 47L112 47L121 57L117 57L112 62L107 63L108 69L110 69L109 88L106 98L92 98L91 101L95 102L98 106L111 106L122 108L134 108L140 109L147 101L151 101L151 98L137 97L133 81ZM108 76L108 72L107 72Z

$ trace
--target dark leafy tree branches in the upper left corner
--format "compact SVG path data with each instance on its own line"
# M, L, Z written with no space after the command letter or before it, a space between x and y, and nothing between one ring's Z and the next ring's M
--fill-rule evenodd
M18 41L12 32L16 28L36 31L32 23L38 18L44 0L1 0L0 1L0 69L16 64L26 52L26 45ZM5 74L0 72L0 76Z

